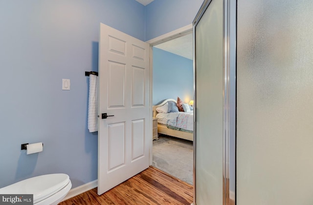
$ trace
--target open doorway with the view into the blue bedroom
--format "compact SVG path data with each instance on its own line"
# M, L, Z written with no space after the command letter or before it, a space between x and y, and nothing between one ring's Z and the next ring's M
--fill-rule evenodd
M190 103L194 99L192 25L174 36L163 38L150 45L154 111L150 164L192 185L194 176L194 123L193 107ZM178 98L181 103L178 102ZM168 113L168 101L175 102L176 107L184 105L185 110L181 106L181 112L177 113L177 110L174 110ZM182 124L177 124L177 119L182 118L185 121L179 121Z

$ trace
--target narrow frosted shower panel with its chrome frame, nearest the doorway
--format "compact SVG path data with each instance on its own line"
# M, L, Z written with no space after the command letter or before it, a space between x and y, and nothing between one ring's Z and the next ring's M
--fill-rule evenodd
M235 202L236 3L205 0L194 21L194 204Z

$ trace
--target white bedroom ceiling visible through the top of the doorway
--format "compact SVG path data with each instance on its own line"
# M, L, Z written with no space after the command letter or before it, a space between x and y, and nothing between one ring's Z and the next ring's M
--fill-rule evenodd
M173 39L171 41L158 44L155 47L192 60L193 59L192 41L193 41L192 33L190 33L177 39Z

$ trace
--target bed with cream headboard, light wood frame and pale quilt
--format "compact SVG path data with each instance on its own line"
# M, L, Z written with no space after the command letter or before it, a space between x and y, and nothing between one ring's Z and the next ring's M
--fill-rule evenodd
M154 118L160 116L160 115L157 115L157 114L163 114L163 113L158 113L156 111L156 108L163 106L164 104L168 103L169 101L177 102L174 99L166 99L163 102L161 102L160 104L153 105L153 117ZM170 123L169 124L170 126L168 126L168 124L165 124L165 121L162 118L159 118L160 120L158 119L157 132L160 133L160 134L169 135L169 136L173 136L173 137L177 137L177 138L193 141L194 140L194 134L193 134L193 131L190 131L190 130L193 130L193 112L189 113L189 115L192 115L192 116L187 116L188 114L187 113L183 113L183 112L171 113L172 120L175 118L175 116L179 116L179 115L182 115L183 117L185 117L185 119L188 118L188 128L187 128L187 130L182 131L182 130L184 130L182 128L176 128L176 129L168 128L168 127L171 127L171 125L174 125L174 121L173 121L173 124ZM192 127L190 127L190 126L192 126Z

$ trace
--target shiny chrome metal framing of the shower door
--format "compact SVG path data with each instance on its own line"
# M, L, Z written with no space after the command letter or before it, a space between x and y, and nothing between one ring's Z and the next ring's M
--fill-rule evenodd
M200 10L193 21L193 65L194 65L194 107L197 109L197 88L196 88L196 26L201 20L205 10L212 0L204 0ZM235 142L236 138L236 17L237 0L223 0L223 205L229 205L230 187L229 181L236 183L236 177L230 178L229 164L236 164L236 144L230 144L230 138ZM234 87L230 87L234 86ZM232 88L232 89L231 89ZM232 112L231 112L232 111ZM194 113L196 122L196 112ZM194 147L197 146L196 123L194 123ZM232 149L231 149L232 146ZM221 147L222 148L222 147ZM232 161L232 162L231 162ZM194 202L196 205L196 151L194 150ZM234 168L234 171L236 169ZM236 174L234 175L236 176ZM235 179L233 179L235 178ZM233 200L236 202L236 191L233 193ZM236 204L236 203L235 203Z

